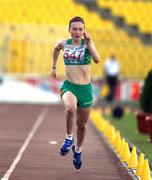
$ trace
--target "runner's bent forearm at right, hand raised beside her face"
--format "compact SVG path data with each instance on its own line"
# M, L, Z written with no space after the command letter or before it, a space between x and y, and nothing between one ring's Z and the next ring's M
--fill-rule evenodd
M94 45L93 41L91 40L91 38L89 37L89 34L86 32L84 33L84 39L85 39L87 48L88 48L94 62L99 63L100 62L99 54L97 53L95 45Z

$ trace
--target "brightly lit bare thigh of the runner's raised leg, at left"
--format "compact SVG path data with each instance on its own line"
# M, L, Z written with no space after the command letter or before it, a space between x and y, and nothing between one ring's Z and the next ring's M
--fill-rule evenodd
M75 106L75 107L77 106L77 98L70 91L67 91L63 94L62 101L66 107L67 106Z

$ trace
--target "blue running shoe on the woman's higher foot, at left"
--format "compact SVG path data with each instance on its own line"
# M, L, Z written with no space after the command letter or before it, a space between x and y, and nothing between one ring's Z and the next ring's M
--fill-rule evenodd
M73 144L73 140L70 140L70 139L65 139L64 140L64 143L62 144L61 148L60 148L60 154L62 156L65 156L68 154L68 152L70 151L70 148Z

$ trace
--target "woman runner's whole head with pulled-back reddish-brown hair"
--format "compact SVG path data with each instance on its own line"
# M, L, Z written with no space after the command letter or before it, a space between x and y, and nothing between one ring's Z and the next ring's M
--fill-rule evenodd
M71 38L75 41L82 39L83 33L85 32L85 22L82 17L75 16L69 21L69 32Z

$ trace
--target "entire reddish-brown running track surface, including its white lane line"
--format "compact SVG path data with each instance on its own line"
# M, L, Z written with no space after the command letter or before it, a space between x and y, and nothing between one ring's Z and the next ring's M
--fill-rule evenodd
M80 170L58 153L64 136L61 105L0 104L1 180L133 179L90 123Z

